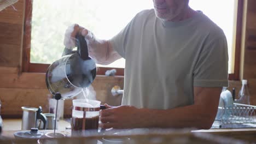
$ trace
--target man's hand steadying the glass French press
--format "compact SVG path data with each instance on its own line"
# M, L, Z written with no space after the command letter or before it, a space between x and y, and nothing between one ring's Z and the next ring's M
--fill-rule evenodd
M139 109L134 106L121 105L121 106L109 106L105 104L107 109L101 110L100 121L102 123L99 126L103 129L115 128L138 128L141 119L139 118Z

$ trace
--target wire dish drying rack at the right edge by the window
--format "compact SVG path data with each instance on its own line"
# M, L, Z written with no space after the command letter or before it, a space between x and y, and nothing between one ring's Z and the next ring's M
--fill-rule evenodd
M234 103L232 107L218 107L216 121L222 124L256 123L256 106Z

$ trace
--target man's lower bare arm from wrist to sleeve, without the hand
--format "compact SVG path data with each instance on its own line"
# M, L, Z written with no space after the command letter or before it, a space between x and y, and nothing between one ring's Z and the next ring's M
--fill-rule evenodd
M195 127L199 129L210 129L219 104L219 95L222 88L194 88L194 105L177 107L171 110L148 110L143 113L150 113L148 119L149 127ZM154 118L153 118L154 117Z

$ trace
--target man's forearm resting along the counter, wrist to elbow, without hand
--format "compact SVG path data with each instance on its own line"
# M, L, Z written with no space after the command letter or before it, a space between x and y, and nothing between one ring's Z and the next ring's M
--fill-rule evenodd
M190 105L171 110L139 109L142 127L209 129L216 111L207 111L203 105Z

